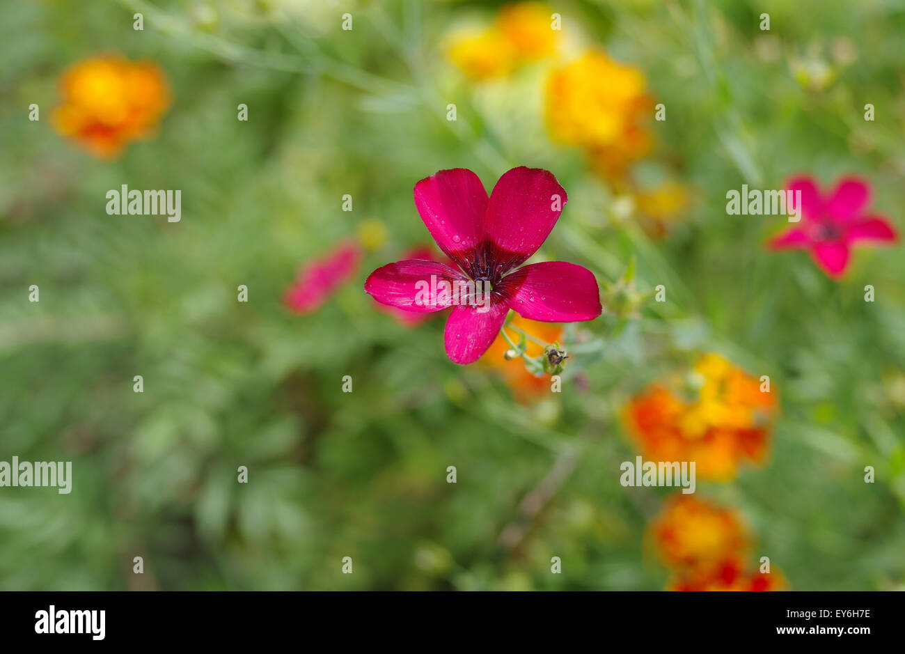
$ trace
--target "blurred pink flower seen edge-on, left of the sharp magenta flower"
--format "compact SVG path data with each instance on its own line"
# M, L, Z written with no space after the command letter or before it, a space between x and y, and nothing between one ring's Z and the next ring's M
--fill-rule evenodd
M328 255L302 266L298 279L286 289L283 303L293 313L311 313L348 282L361 260L360 248L345 242Z

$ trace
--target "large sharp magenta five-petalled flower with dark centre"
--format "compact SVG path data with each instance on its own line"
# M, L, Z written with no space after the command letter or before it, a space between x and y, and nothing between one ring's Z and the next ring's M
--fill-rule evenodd
M414 205L458 270L405 259L377 268L365 290L380 303L408 311L430 313L452 306L444 333L446 354L462 364L481 358L510 309L541 322L594 320L601 313L600 292L589 270L561 261L518 267L547 239L567 199L557 178L539 168L512 168L490 198L471 170L441 170L414 185ZM432 275L450 285L490 284L490 304L453 305L433 287L427 301L419 301Z

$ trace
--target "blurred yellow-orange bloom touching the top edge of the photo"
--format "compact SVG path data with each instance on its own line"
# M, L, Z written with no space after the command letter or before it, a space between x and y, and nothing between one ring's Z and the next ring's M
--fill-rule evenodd
M556 53L559 33L552 29L551 14L541 3L506 5L490 27L454 34L447 56L470 77L508 75L523 63Z

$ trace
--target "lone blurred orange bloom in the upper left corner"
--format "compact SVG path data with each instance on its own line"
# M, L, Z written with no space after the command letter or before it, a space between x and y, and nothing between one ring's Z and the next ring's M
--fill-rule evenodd
M71 66L60 78L62 104L53 125L92 154L117 157L129 141L148 136L170 104L155 63L100 56Z

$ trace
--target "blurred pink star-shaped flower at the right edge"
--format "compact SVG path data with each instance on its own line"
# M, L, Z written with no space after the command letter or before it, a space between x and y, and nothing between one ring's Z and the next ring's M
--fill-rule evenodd
M858 178L843 178L829 197L821 197L814 180L794 178L786 188L801 191L800 226L775 236L770 249L807 249L824 273L845 274L853 245L862 241L892 242L896 232L883 216L867 213L871 188Z

